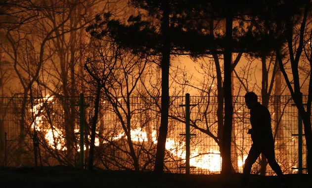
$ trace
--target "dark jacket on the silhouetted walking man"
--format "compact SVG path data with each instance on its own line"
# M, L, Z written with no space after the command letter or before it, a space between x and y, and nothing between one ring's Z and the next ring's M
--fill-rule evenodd
M258 102L258 104L250 110L250 123L252 127L251 139L253 144L274 145L271 129L271 115L267 107Z

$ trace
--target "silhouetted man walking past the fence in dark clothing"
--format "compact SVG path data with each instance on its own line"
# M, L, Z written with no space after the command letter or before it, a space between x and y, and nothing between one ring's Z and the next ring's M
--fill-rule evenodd
M245 160L242 184L247 184L251 167L261 153L267 157L267 162L272 170L282 179L283 173L275 160L270 112L267 107L258 102L258 96L253 92L245 94L245 102L250 109L251 129L248 134L251 135L253 144Z

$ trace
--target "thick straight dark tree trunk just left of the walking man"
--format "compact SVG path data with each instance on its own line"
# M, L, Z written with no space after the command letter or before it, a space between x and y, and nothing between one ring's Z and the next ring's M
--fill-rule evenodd
M232 93L225 92L232 90L231 84L231 61L232 61L232 31L233 31L233 17L231 14L230 3L228 5L228 13L226 15L225 24L225 40L226 47L224 48L224 129L223 129L223 143L222 143L222 174L231 173L231 133L233 120L233 105Z

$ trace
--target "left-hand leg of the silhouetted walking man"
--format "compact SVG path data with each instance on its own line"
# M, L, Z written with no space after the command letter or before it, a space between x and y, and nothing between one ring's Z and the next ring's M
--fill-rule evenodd
M250 171L252 165L256 162L260 155L261 151L259 147L256 147L254 144L251 145L251 148L249 150L248 156L244 163L244 170L243 170L243 178L242 178L242 184L246 185L249 179Z

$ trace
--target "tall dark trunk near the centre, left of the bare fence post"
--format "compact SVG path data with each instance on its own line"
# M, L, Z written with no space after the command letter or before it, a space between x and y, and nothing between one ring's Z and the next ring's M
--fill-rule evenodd
M164 159L166 150L166 140L168 132L169 116L169 66L170 66L170 38L169 38L169 3L168 0L162 1L163 19L161 31L163 35L163 51L161 61L161 119L159 135L157 140L157 150L155 159L155 172L164 172Z

